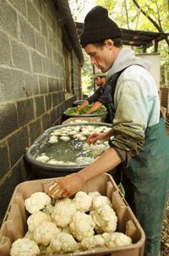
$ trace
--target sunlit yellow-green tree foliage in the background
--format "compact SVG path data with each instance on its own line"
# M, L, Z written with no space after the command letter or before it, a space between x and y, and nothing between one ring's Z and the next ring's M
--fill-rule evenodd
M85 7L85 0L68 0L69 3L74 3L74 13L76 19L78 14ZM154 31L159 32L157 27L150 21L152 19L162 31L168 32L169 28L169 14L166 0L137 0L140 8L143 9L144 14L141 13L140 8L136 7L134 0L95 0L95 5L101 5L108 9L109 16L124 29L138 30L138 31ZM76 12L75 12L76 8ZM150 19L148 19L148 16ZM126 47L126 46L124 46ZM151 53L153 47L149 47L147 52ZM141 49L134 47L135 53L141 53ZM161 64L167 62L168 59L168 45L165 40L159 42L159 53L161 53ZM88 86L93 85L92 74L93 67L90 64L90 58L84 51L85 65L82 69L82 86L85 86L85 92ZM84 90L84 89L83 89Z

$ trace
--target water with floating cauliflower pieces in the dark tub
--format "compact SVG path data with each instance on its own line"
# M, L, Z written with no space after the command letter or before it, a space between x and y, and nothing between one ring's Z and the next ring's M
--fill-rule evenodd
M51 131L46 143L34 158L46 164L91 164L109 145L107 141L98 141L89 146L86 139L94 131L105 132L108 130L110 127L104 125L70 125L55 129Z

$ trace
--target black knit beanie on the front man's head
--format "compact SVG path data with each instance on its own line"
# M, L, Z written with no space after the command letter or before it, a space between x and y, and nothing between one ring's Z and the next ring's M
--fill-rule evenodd
M95 6L85 16L85 24L80 36L80 43L85 46L88 43L101 42L106 39L121 38L122 32L117 24L108 17L106 8Z

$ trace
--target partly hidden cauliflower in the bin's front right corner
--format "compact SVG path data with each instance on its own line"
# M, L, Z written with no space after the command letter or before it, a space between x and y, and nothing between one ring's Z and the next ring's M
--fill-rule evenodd
M132 244L131 237L121 233L121 232L113 232L113 233L103 233L102 237L105 239L106 247L119 247Z

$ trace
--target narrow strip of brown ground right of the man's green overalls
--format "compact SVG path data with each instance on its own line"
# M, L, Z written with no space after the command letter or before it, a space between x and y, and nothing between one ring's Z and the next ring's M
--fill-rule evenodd
M163 219L161 234L161 256L169 256L169 200L166 203L166 210Z

